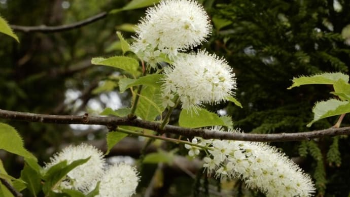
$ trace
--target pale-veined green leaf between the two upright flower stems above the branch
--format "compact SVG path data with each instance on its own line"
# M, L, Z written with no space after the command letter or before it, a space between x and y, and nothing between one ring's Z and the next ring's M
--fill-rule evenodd
M160 86L159 88L146 86L139 96L135 114L143 120L153 121L164 111L160 99Z

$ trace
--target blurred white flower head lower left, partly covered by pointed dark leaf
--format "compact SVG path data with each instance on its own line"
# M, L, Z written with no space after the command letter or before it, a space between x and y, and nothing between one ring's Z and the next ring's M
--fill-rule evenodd
M61 189L76 189L83 192L88 192L88 188L95 184L103 174L104 158L100 150L92 145L80 144L79 146L68 146L62 149L61 152L56 153L50 158L50 162L46 163L45 170L57 163L67 160L67 164L72 163L78 159L90 159L82 165L74 168L68 172L65 179L63 179L57 190Z

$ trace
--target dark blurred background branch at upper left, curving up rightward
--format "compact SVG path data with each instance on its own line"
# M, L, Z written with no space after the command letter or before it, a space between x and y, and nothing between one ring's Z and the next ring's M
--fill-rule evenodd
M17 31L23 31L23 32L43 32L43 33L50 33L50 32L59 32L59 31L66 31L71 30L75 28L79 28L81 26L88 25L90 23L93 23L97 20L100 20L107 16L107 12L99 13L95 16L92 16L90 18L87 18L85 20L72 23L72 24L65 24L65 25L59 25L59 26L46 26L46 25L39 25L39 26L21 26L21 25L10 25L12 29Z

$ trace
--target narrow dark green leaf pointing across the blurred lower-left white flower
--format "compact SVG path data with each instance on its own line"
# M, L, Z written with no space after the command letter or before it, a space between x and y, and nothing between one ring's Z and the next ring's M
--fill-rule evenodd
M44 175L44 193L48 194L51 190L55 189L57 183L59 183L71 170L82 165L83 163L86 163L89 159L90 157L86 159L78 159L69 165L67 165L67 160L64 160L48 169Z

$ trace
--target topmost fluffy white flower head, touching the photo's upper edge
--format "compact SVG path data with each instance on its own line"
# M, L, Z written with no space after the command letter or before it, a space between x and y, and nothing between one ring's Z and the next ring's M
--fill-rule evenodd
M192 0L164 0L146 11L136 27L136 42L131 49L141 58L144 51L160 50L168 56L205 41L212 30L203 7ZM144 59L144 60L145 60Z

